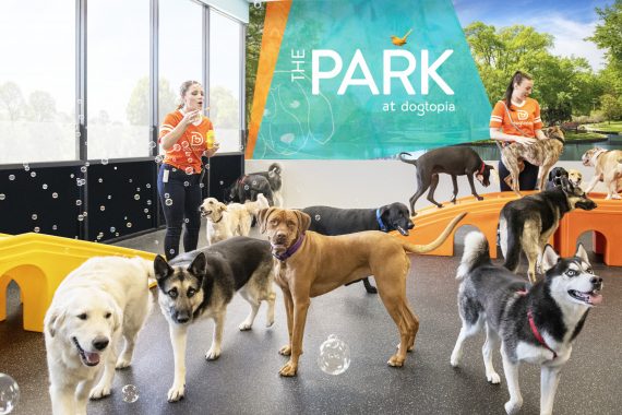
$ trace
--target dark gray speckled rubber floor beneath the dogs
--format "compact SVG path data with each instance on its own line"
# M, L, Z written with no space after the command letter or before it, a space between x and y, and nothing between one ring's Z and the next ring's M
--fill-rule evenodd
M264 305L249 332L237 329L248 306L236 297L228 309L219 359L204 358L212 340L212 321L200 321L190 329L186 398L168 403L172 351L167 323L155 306L141 332L133 365L117 372L112 394L91 402L88 413L503 414L509 396L505 379L500 386L486 381L482 335L467 343L460 368L450 366L459 331L454 276L466 230L457 233L453 258L411 257L407 294L421 325L415 351L403 368L386 364L398 343L397 330L378 296L367 294L362 284L312 300L296 378L278 376L286 358L277 351L287 342L280 293L275 324L264 327ZM163 239L164 232L159 230L118 245L160 252ZM589 246L589 239L584 239ZM204 240L202 232L200 244ZM622 269L606 266L599 258L594 259L594 268L605 278L605 301L590 311L573 356L562 370L557 414L621 412ZM48 414L44 339L40 333L22 330L17 296L12 284L9 317L0 323L0 372L11 375L20 384L22 395L15 414ZM319 347L330 334L343 339L350 348L350 367L339 376L324 374L316 363ZM502 374L499 355L494 361ZM134 403L122 399L121 388L127 384L137 388L140 398ZM521 384L525 400L522 414L537 414L539 370L523 366Z

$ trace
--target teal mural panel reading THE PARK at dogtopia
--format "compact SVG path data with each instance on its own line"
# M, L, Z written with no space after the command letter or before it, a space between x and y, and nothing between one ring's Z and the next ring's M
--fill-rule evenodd
M490 111L450 0L295 0L253 158L473 142L488 138Z

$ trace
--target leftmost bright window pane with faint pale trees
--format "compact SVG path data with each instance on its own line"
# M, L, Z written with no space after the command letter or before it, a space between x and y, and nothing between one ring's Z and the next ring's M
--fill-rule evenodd
M75 159L75 2L4 0L0 164Z

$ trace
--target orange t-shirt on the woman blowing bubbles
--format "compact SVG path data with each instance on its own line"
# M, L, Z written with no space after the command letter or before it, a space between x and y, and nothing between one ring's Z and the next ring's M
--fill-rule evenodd
M176 110L164 117L159 127L158 142L168 134L183 119L183 112ZM207 117L203 117L199 124L191 123L177 143L165 153L164 163L170 164L189 173L201 173L201 156L214 143L214 126Z

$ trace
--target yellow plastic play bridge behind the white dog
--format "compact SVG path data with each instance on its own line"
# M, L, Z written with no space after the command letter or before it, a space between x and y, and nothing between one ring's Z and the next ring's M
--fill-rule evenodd
M7 319L7 286L15 281L24 305L24 330L43 332L44 316L56 288L92 257L122 256L153 260L153 252L35 233L0 234L0 321Z

